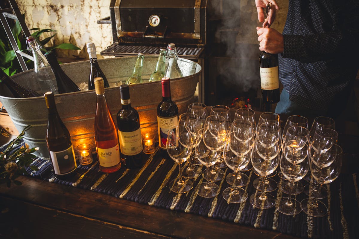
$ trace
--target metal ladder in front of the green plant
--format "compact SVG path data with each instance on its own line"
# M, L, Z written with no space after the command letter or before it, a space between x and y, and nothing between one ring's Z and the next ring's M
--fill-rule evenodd
M11 32L8 20L6 18L11 18L14 20L19 21L19 24L24 32L25 38L31 36L29 29L27 28L27 25L25 24L25 20L19 10L18 4L16 3L15 0L8 0L11 8L1 8L0 6L0 21L1 24L3 25L6 35L8 36L9 40L10 40L10 44L11 47L13 47L16 57L20 63L20 66L22 68L23 71L27 71L28 68L25 64L25 60L24 57L27 59L30 59L31 61L34 61L34 58L32 56L30 56L29 54L26 54L22 51L20 51L18 44L15 40L15 37L13 35L13 33Z

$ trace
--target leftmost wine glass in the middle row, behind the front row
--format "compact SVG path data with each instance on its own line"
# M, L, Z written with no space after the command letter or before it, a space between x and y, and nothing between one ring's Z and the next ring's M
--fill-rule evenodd
M198 135L198 130L202 128L198 115L196 115L195 113L183 113L179 116L178 124L184 125L188 130L188 132L192 135L192 141L194 142L193 148L194 148L196 146L195 142L196 142L196 137ZM192 164L192 156L194 154L195 153L192 152L191 157L188 159L188 167L182 173L182 176L185 178L196 178L202 174L202 167L198 167Z

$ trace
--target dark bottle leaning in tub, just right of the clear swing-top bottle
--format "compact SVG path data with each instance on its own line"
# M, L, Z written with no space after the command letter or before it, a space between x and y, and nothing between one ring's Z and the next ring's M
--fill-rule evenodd
M45 57L50 64L53 73L55 74L57 90L59 91L59 94L81 91L80 88L61 69L61 66L59 62L57 62L57 57L53 51L46 52Z

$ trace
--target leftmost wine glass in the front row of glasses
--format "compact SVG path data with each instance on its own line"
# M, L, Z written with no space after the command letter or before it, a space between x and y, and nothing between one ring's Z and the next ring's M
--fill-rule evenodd
M181 163L186 162L192 153L192 135L184 125L177 125L174 131L168 130L167 153L174 162L178 163L179 176L169 182L169 189L176 193L185 193L192 189L193 183L189 179L182 178Z

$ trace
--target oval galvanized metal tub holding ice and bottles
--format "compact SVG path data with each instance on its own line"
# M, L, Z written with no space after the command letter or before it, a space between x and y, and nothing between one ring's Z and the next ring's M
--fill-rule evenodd
M100 59L99 65L110 86L118 81L125 82L132 73L136 57ZM139 112L141 133L157 134L157 105L162 100L161 82L146 82L154 71L156 56L145 56L142 76L145 83L130 86L131 105ZM178 105L179 113L185 113L187 106L194 101L194 93L201 72L201 66L193 61L178 58L184 77L171 80L172 100ZM81 61L61 64L65 73L77 84L88 82L90 63ZM14 75L12 78L23 86L41 92L33 70ZM116 123L116 114L121 109L119 87L105 89L106 100ZM26 125L33 125L24 135L30 147L39 147L36 155L49 158L45 136L47 129L47 108L44 97L9 98L0 96L15 127L21 132ZM94 90L55 95L57 111L71 134L74 147L90 143L95 148L94 118L96 95Z

